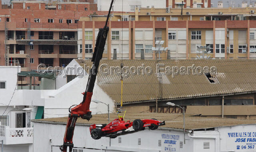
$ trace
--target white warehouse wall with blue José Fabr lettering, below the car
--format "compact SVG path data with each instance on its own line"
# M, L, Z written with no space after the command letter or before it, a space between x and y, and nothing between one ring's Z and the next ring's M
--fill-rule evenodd
M34 152L58 151L58 146L63 144L65 125L34 123ZM121 137L121 143L118 143L118 137L111 139L102 137L100 140L93 140L90 136L89 126L76 126L74 131L74 146L83 149L83 152L255 152L254 149L241 149L242 145L255 145L256 142L235 142L237 138L256 138L255 124L240 125L215 128L215 130L194 131L188 136L186 132L186 144L180 148L180 142L183 142L183 132L172 129L157 129L136 132ZM252 137L229 137L228 133L246 132ZM251 132L251 133L250 133ZM254 135L253 135L254 134ZM166 136L167 135L167 136ZM176 144L167 144L169 135L178 135ZM38 138L40 137L40 138ZM141 138L141 144L138 145L138 138ZM51 142L50 142L51 139ZM161 145L158 142L161 142ZM209 148L204 148L204 143L209 142ZM240 149L237 149L240 146ZM85 147L85 148L84 148ZM166 147L168 150L166 150ZM94 148L86 149L86 148ZM171 150L169 149L171 148ZM98 149L98 150L97 150Z

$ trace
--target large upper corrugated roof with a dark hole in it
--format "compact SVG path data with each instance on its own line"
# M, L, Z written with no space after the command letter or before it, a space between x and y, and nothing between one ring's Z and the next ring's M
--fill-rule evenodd
M77 60L84 66L91 66L90 60ZM100 64L120 66L121 60L101 60ZM152 67L151 75L131 75L124 78L123 102L135 102L156 99L156 64L154 60L123 60L124 66ZM165 66L215 66L218 74L217 83L210 83L202 75L165 75L163 78L163 98L176 99L186 97L210 96L256 91L256 60L167 60L160 61ZM192 72L192 71L190 71ZM98 73L98 85L116 102L121 100L120 75Z

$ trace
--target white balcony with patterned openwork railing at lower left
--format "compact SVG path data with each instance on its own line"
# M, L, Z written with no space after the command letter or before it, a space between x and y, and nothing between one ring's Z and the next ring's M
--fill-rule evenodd
M0 126L0 140L4 144L32 144L33 128L9 128L9 126Z

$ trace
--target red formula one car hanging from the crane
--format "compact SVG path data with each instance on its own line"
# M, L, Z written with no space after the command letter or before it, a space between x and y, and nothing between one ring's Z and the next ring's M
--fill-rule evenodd
M100 139L101 137L116 138L124 134L131 134L144 130L148 127L150 130L155 130L158 126L165 125L165 122L160 122L156 119L136 119L133 122L125 122L122 117L115 119L110 124L102 124L101 126L96 126L93 124L90 126L90 133L93 139ZM126 130L132 127L134 130Z

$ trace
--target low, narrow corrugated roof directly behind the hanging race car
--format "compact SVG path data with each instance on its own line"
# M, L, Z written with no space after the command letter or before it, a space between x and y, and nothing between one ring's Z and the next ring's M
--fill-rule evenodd
M108 124L108 114L95 114L92 116L90 121L78 118L77 125L79 124ZM118 118L117 114L110 114L110 121ZM126 113L124 120L135 120L135 119L151 119L156 118L157 120L165 120L166 125L160 126L164 128L176 128L183 129L183 115L182 114L166 114L166 113ZM197 130L205 128L214 128L222 126L236 126L240 124L256 124L256 120L241 120L232 118L212 118L212 117L202 117L202 116L191 116L186 114L185 118L185 128L186 130ZM63 124L67 123L67 117L62 118L46 118L32 120L33 122L39 123L52 123L60 122Z

